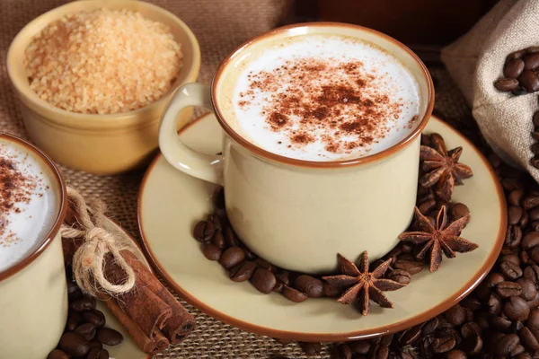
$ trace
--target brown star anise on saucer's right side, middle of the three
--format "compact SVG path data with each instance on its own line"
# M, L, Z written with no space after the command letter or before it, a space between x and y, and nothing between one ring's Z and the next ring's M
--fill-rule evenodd
M422 215L418 207L415 207L415 221L419 231L403 232L399 239L423 246L417 258L423 259L429 251L429 271L436 272L442 262L442 252L447 258L455 258L455 252L464 253L475 250L478 245L460 237L464 227L470 222L470 214L447 223L446 206L442 206L437 214L436 223L431 223L429 218Z

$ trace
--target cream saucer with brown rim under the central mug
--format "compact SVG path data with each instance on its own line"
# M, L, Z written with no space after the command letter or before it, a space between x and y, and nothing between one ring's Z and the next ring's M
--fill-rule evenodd
M507 215L503 191L479 150L439 118L430 119L426 132L441 134L448 148L464 148L461 161L473 169L474 176L455 188L454 200L470 208L472 221L463 237L479 248L444 258L436 273L424 268L410 285L387 293L393 309L373 303L364 317L353 306L334 299L295 303L278 293L259 293L248 282L232 282L223 267L204 257L191 235L194 224L212 212L216 185L173 169L162 155L147 170L138 198L146 256L187 302L218 320L264 336L344 341L384 335L429 320L462 300L488 274L504 241ZM208 154L221 151L222 136L211 114L181 130L185 144ZM361 251L358 248L358 254Z

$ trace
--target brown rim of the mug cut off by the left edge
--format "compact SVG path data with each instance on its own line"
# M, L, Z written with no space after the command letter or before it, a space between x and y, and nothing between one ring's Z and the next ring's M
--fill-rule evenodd
M31 153L35 154L36 157L40 159L40 162L44 163L47 167L49 167L49 170L52 172L55 180L57 181L58 188L60 188L60 207L55 222L53 223L49 233L47 233L45 237L36 244L35 248L31 250L30 254L24 256L12 267L8 267L4 271L0 272L1 282L4 279L9 278L10 276L13 276L22 271L22 269L30 265L31 262L33 262L36 258L40 257L41 253L47 250L50 242L55 239L57 233L60 231L60 226L62 225L62 223L64 223L64 218L66 217L67 211L67 193L66 183L62 178L62 174L60 173L60 171L58 171L57 166L54 164L54 162L52 162L52 160L47 154L43 153L38 147L22 140L17 136L9 135L5 132L0 132L0 138L5 138L8 141L19 144Z

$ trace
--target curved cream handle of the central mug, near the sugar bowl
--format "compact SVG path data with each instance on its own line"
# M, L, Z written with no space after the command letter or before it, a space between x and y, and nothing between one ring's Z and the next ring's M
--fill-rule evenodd
M172 96L163 111L159 127L159 147L164 158L174 168L200 180L223 185L223 157L199 153L183 144L176 132L176 123L181 109L188 106L213 107L209 86L202 83L186 83Z

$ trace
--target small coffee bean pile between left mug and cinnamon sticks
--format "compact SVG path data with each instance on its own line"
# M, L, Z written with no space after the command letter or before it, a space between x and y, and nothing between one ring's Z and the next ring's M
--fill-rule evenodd
M66 268L70 273L70 269ZM95 308L95 298L85 296L75 282L67 278L69 311L64 334L47 359L109 359L104 346L118 346L123 336L105 327L105 315Z

